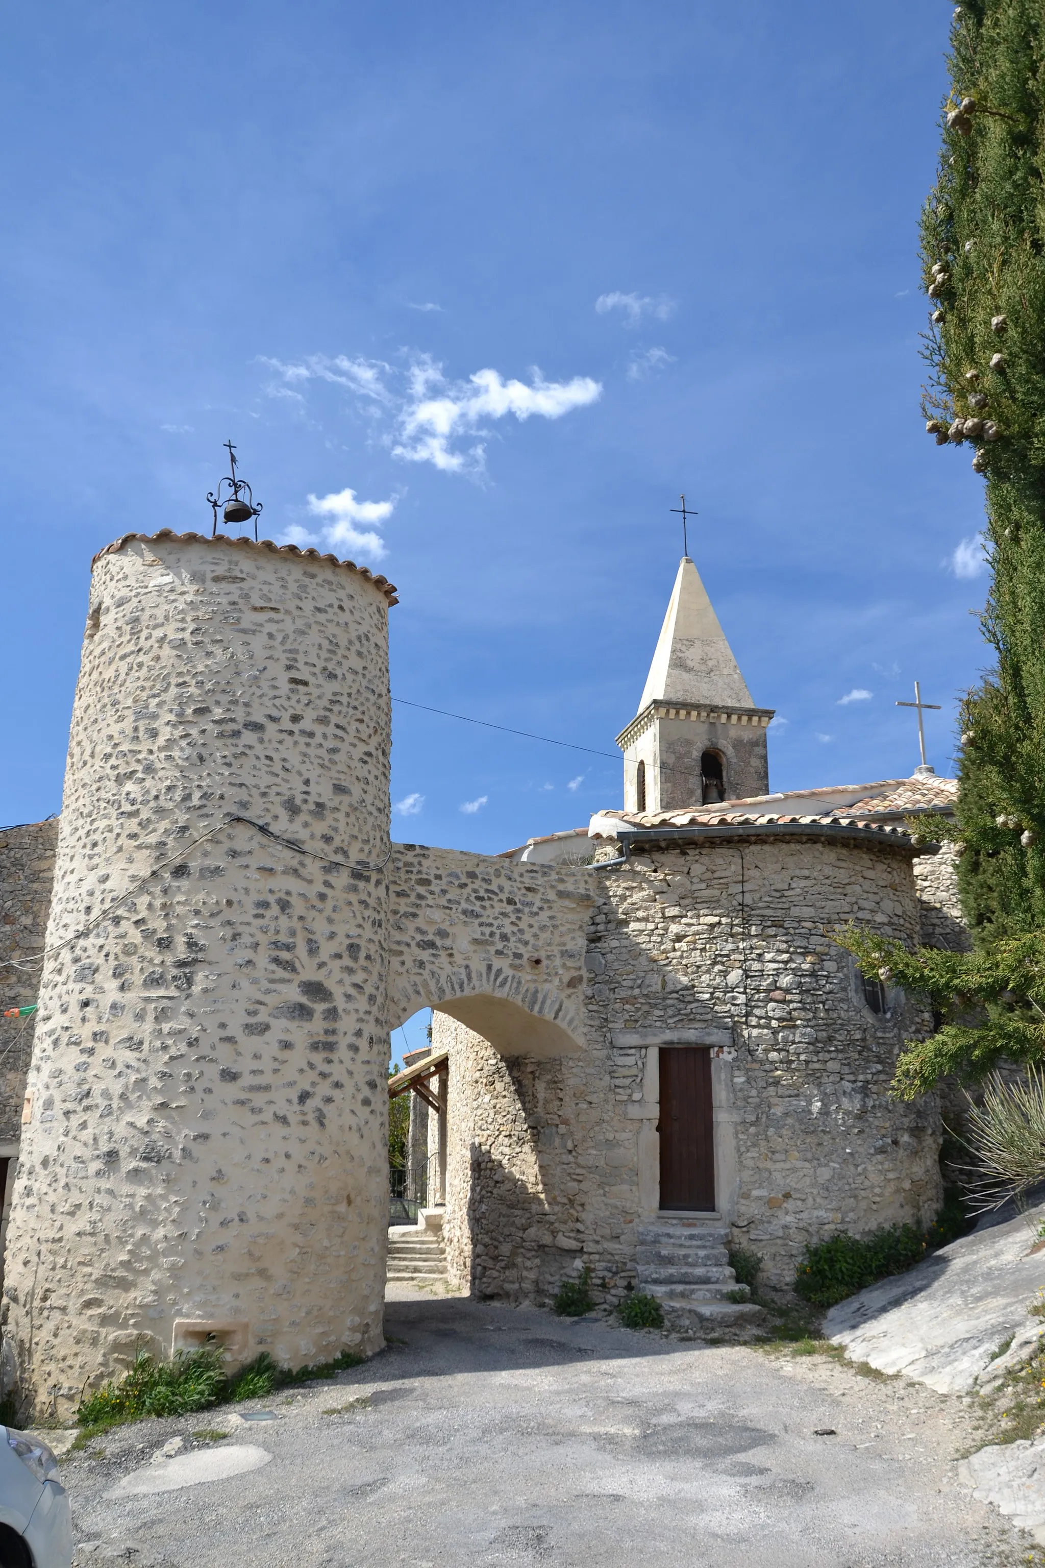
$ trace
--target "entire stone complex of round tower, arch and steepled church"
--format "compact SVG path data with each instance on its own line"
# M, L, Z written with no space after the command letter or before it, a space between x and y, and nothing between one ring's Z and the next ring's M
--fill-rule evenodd
M5 1008L39 1002L28 1073L31 1021L0 1058L0 1370L38 1411L141 1347L381 1344L389 1033L421 1007L429 1201L479 1295L586 1267L738 1312L725 1242L786 1284L805 1242L938 1203L935 1102L885 1093L931 1019L830 931L962 942L902 825L953 781L768 795L771 710L686 560L624 811L504 856L393 845L395 602L252 539L96 557L61 825L0 834Z

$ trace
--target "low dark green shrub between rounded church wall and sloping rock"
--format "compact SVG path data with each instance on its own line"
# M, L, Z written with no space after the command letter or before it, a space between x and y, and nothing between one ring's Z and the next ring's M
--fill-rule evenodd
M957 1193L948 1193L927 1231L913 1225L888 1225L870 1236L840 1231L816 1247L807 1247L794 1276L794 1289L810 1306L833 1306L879 1279L913 1269L926 1253L946 1247L970 1228Z

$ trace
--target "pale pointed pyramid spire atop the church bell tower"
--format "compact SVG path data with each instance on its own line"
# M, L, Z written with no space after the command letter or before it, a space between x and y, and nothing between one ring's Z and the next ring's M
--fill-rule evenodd
M713 702L725 707L754 707L754 701L733 649L725 641L708 591L688 555L678 563L667 615L639 701L639 713L650 702Z

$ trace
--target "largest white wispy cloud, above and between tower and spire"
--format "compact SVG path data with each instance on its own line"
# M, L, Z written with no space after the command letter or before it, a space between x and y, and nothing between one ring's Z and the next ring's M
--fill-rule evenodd
M428 354L412 354L406 368L384 359L349 359L312 354L296 365L263 359L276 372L271 395L280 395L309 379L329 381L353 392L368 412L384 420L378 439L404 463L431 463L443 474L479 474L484 466L487 420L514 414L561 419L602 397L602 383L591 376L545 381L539 370L530 383L504 378L497 370L476 370L467 381L451 381ZM299 395L299 394L298 394ZM479 437L467 445L467 437ZM384 503L376 503L384 505ZM359 521L359 519L356 519Z

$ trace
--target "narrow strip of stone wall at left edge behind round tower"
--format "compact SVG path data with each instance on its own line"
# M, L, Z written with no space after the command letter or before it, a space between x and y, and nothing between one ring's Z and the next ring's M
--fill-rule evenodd
M44 950L56 844L56 818L0 831L0 1014L36 1000L41 969L31 960ZM22 1132L34 1029L34 1014L0 1018L0 1146Z

